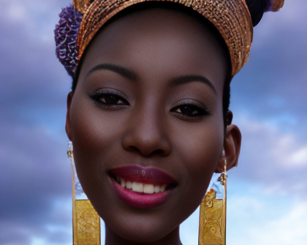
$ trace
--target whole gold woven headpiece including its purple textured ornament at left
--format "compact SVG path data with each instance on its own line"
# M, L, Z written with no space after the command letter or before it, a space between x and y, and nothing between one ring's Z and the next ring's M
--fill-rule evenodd
M68 73L74 77L76 66L85 48L104 23L122 9L150 1L179 3L207 18L227 44L232 76L248 61L253 40L253 25L246 0L73 0L72 8L76 11L70 7L63 9L60 14L61 20L55 30L56 54ZM284 2L285 0L270 0L270 6L266 11L278 11ZM70 36L67 29L72 33ZM76 37L74 33L78 29Z

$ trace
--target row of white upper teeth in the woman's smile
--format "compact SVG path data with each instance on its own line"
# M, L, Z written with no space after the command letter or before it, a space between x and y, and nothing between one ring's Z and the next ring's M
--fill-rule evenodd
M154 186L153 184L143 184L139 182L126 181L122 177L116 176L117 181L120 185L126 189L133 190L135 192L153 194L163 192L166 189L166 184L161 186Z

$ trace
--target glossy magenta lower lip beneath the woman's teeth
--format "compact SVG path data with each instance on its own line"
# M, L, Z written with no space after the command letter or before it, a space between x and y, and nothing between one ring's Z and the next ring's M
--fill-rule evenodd
M119 183L117 183L113 178L111 178L111 183L119 196L119 198L126 202L128 205L136 208L153 208L161 205L169 197L173 189L165 190L163 192L154 194L144 194L128 190Z

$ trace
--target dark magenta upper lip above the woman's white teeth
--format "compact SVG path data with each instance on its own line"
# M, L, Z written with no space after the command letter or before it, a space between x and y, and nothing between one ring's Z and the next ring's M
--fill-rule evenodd
M176 180L157 168L144 168L136 165L123 166L110 170L113 173L126 181L140 182L143 184L163 185L176 183Z

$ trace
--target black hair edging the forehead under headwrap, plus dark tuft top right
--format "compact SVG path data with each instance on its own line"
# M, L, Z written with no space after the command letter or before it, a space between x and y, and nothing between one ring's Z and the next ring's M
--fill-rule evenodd
M252 19L253 26L256 26L259 23L259 21L261 20L265 10L268 9L268 7L270 5L270 0L246 0L246 4L247 4L248 9L251 13L251 19ZM223 120L224 120L224 127L226 129L227 124L230 123L230 122L227 122L227 112L229 110L229 104L230 104L230 82L231 82L231 78L232 78L231 77L231 59L230 59L228 47L227 47L223 37L221 36L220 32L216 29L216 27L210 21L205 19L200 13L197 13L195 10L188 8L188 7L186 7L182 4L178 4L178 3L174 3L174 2L150 1L150 2L138 3L138 4L135 4L135 5L128 7L126 9L123 9L122 11L117 13L114 17L112 17L109 21L107 21L107 23L105 25L103 25L102 28L104 28L105 26L109 25L111 22L115 21L116 19L118 19L118 18L120 18L120 17L122 17L122 16L124 16L128 13L132 13L132 12L135 12L135 11L139 11L139 10L147 9L147 8L152 8L152 7L155 7L155 8L162 7L162 8L166 8L166 9L172 9L172 10L175 9L177 11L191 15L192 17L196 18L198 21L200 21L201 23L206 25L207 28L209 28L212 31L212 33L216 36L216 39L220 43L221 47L223 47L224 55L225 55L225 57L227 59L227 63L228 63L227 76L225 77L225 82L224 82L224 86L223 86ZM95 39L95 36L92 38L92 40L94 40L94 39ZM82 57L79 61L79 65L77 67L76 74L73 77L72 92L74 92L75 89L76 89L77 81L78 81L79 74L80 74L81 65L83 63L83 59L85 57L85 54L87 53L87 48L90 46L90 43L85 48L83 55L82 55Z

